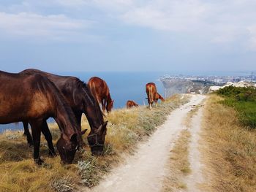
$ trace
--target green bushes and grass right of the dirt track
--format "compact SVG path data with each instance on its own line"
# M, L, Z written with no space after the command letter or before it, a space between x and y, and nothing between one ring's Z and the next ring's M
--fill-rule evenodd
M221 101L229 107L238 111L238 118L243 126L256 128L256 88L236 88L228 86L217 91L217 94L224 96Z

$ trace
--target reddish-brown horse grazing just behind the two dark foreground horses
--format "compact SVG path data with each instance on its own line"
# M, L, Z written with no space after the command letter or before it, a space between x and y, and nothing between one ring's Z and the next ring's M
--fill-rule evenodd
M106 109L107 112L110 112L113 108L114 100L111 99L110 91L105 80L102 80L99 77L91 77L88 86L91 93L94 95L94 98L97 99L99 104L102 104L103 112L105 112Z

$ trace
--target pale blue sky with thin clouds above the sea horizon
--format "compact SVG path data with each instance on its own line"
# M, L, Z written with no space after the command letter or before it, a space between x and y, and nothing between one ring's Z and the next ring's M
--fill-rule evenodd
M256 70L255 0L1 0L0 70Z

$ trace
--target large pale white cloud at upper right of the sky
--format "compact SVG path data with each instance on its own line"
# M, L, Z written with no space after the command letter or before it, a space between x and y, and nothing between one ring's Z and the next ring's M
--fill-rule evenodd
M212 43L230 43L251 39L249 26L255 23L256 3L252 0L203 1L159 0L144 1L119 15L131 26L158 31L207 37ZM252 30L251 30L252 31Z

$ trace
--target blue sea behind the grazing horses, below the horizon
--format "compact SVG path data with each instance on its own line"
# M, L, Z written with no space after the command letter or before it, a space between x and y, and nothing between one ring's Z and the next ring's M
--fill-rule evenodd
M91 77L100 77L107 82L110 89L110 96L114 100L114 109L126 107L127 100L133 100L140 105L147 104L146 83L154 82L157 91L164 94L164 87L159 77L165 72L53 72L54 74L78 77L84 82L88 82ZM48 122L53 122L49 118ZM10 123L0 125L0 132L4 130L23 130L22 123Z

